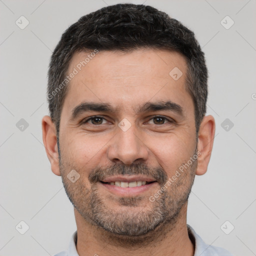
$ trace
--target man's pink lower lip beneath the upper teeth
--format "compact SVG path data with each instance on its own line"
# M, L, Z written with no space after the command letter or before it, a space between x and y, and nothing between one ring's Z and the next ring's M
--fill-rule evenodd
M121 187L121 186L110 185L102 182L99 182L99 184L117 195L134 196L149 190L150 188L155 186L157 182L152 182L146 185L134 186L134 187Z

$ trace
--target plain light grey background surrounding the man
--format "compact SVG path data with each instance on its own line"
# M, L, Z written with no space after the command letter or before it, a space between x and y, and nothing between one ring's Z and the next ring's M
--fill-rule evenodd
M53 255L67 248L76 230L73 207L42 144L47 68L69 25L118 2L127 1L0 0L0 255ZM256 255L256 1L128 2L144 2L178 19L205 52L207 114L214 116L216 132L208 170L195 177L187 223L208 244ZM21 15L29 21L24 29L15 23ZM29 226L24 234L15 228L21 220Z

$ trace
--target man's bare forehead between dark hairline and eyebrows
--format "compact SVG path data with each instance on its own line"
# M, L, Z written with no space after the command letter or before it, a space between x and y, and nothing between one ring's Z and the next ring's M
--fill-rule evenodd
M67 74L72 72L63 104L69 112L85 100L112 102L118 109L134 109L136 103L150 99L181 105L192 100L185 89L185 57L175 51L76 52Z

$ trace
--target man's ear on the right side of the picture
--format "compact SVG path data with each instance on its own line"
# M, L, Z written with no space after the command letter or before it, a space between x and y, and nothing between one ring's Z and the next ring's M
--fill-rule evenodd
M214 134L215 120L212 115L206 115L203 117L198 131L197 150L200 153L198 152L196 175L202 175L207 171Z

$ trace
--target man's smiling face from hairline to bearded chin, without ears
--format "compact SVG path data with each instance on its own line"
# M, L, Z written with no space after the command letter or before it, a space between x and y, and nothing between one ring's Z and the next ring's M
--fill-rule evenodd
M73 68L78 73L68 85L60 118L59 164L69 199L85 221L112 233L145 234L159 223L175 222L197 165L192 161L172 179L197 151L184 57L163 50L100 51L79 70L87 54L72 57L67 74ZM178 79L176 72L169 74L174 67L183 73ZM146 102L165 101L174 104L142 109ZM86 110L88 102L114 110ZM68 179L71 170L80 175L75 182ZM118 186L125 181L135 187Z

